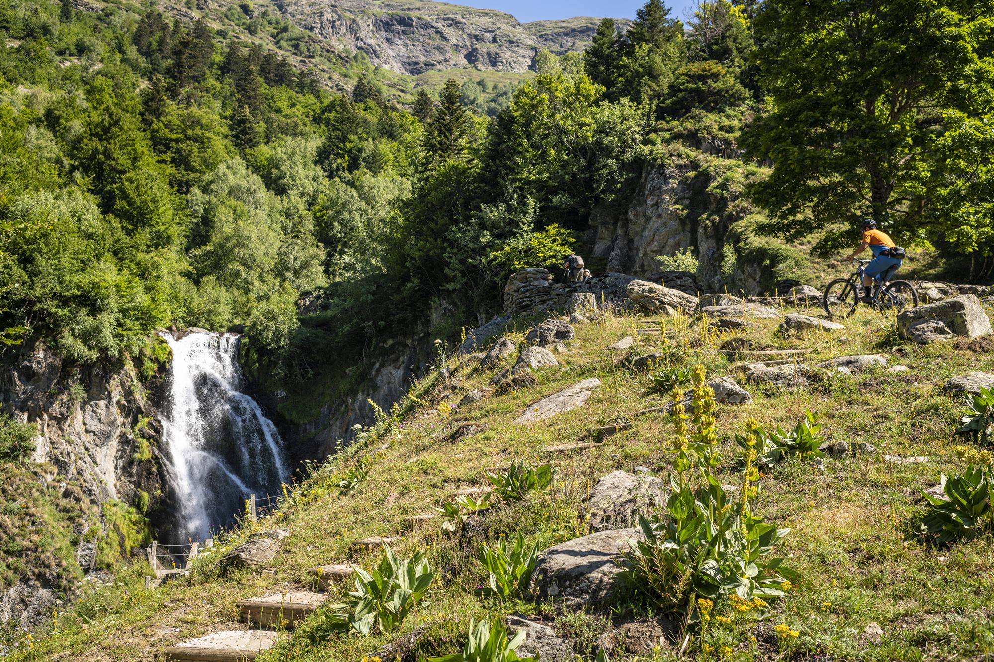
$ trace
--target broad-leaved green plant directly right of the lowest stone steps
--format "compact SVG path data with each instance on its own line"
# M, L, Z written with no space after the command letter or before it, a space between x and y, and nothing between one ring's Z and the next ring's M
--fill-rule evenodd
M390 634L424 602L434 579L423 552L398 559L389 546L373 571L354 569L356 589L349 591L345 602L331 605L324 613L325 624L333 632Z

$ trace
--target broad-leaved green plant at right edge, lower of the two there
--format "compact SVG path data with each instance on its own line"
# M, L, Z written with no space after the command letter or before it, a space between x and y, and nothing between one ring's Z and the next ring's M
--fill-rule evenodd
M929 503L920 529L926 542L942 546L994 534L994 469L989 464L942 474L941 485L945 499L922 492Z

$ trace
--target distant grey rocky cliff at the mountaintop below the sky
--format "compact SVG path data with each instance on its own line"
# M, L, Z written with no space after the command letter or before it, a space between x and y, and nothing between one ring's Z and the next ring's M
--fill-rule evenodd
M403 74L475 68L525 72L535 53L580 51L598 19L521 24L503 12L440 2L397 0L277 0L298 27L367 54Z

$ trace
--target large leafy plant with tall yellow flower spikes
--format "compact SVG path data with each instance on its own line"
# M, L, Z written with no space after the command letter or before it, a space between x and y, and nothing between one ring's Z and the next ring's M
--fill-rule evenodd
M670 475L668 516L640 519L645 539L632 546L621 574L633 603L668 614L689 614L694 595L720 598L735 593L745 599L782 595L783 574L789 573L781 567L782 559L770 557L789 530L764 524L754 514L758 425L751 419L747 423L745 475L736 502L716 474L722 456L715 394L704 380L705 369L699 365L694 371L693 428L681 402L683 392L673 390L676 473Z

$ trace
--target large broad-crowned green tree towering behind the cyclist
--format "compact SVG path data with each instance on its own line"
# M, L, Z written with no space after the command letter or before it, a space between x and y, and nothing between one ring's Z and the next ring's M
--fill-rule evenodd
M754 188L773 217L766 230L802 237L813 217L827 252L852 246L859 220L872 217L899 243L961 227L960 248L977 249L990 199L963 193L989 186L977 167L989 127L970 138L960 129L982 126L994 98L983 36L992 10L989 0L937 12L870 0L766 5L757 62L770 111L749 137L773 162Z

